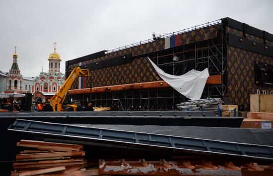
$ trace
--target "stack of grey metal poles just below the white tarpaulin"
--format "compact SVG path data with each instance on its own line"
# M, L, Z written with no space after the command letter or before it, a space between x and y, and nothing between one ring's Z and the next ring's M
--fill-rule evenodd
M218 111L222 110L222 100L220 98L190 100L188 102L177 104L180 111Z

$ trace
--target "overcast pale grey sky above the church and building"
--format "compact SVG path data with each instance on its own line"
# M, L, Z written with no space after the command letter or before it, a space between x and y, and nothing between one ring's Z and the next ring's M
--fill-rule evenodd
M65 61L231 17L273 33L273 0L0 0L0 70L17 46L23 76L37 76L48 57Z

